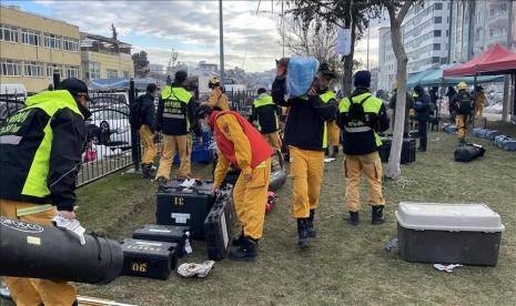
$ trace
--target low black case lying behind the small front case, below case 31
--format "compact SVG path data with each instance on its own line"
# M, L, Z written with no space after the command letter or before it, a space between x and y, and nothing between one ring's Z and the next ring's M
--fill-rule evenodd
M171 242L178 244L178 257L185 253L184 244L190 235L190 226L145 224L132 233L134 239Z

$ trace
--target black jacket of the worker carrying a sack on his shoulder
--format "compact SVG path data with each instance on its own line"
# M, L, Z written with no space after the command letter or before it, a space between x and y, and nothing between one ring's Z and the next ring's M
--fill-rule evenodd
M290 106L284 142L302 150L323 151L325 122L334 120L336 115L335 100L324 103L318 95L310 96L308 100L285 100L285 80L277 78L271 93L274 103Z

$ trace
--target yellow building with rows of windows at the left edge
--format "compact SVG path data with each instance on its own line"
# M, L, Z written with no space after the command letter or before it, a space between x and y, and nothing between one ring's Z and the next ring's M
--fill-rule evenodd
M0 6L0 83L39 92L53 73L81 78L79 27Z

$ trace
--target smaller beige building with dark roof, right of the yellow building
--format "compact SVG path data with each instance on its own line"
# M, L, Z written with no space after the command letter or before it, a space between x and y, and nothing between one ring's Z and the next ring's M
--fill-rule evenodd
M82 79L134 78L131 44L81 32Z

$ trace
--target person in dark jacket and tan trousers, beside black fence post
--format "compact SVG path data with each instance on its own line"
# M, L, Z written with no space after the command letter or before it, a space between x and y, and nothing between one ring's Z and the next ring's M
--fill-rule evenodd
M142 157L142 177L143 178L153 178L152 164L158 154L158 151L154 145L154 129L155 129L155 84L146 85L145 94L139 96L136 100L140 103L139 115L140 115L140 139L143 146L143 157Z

